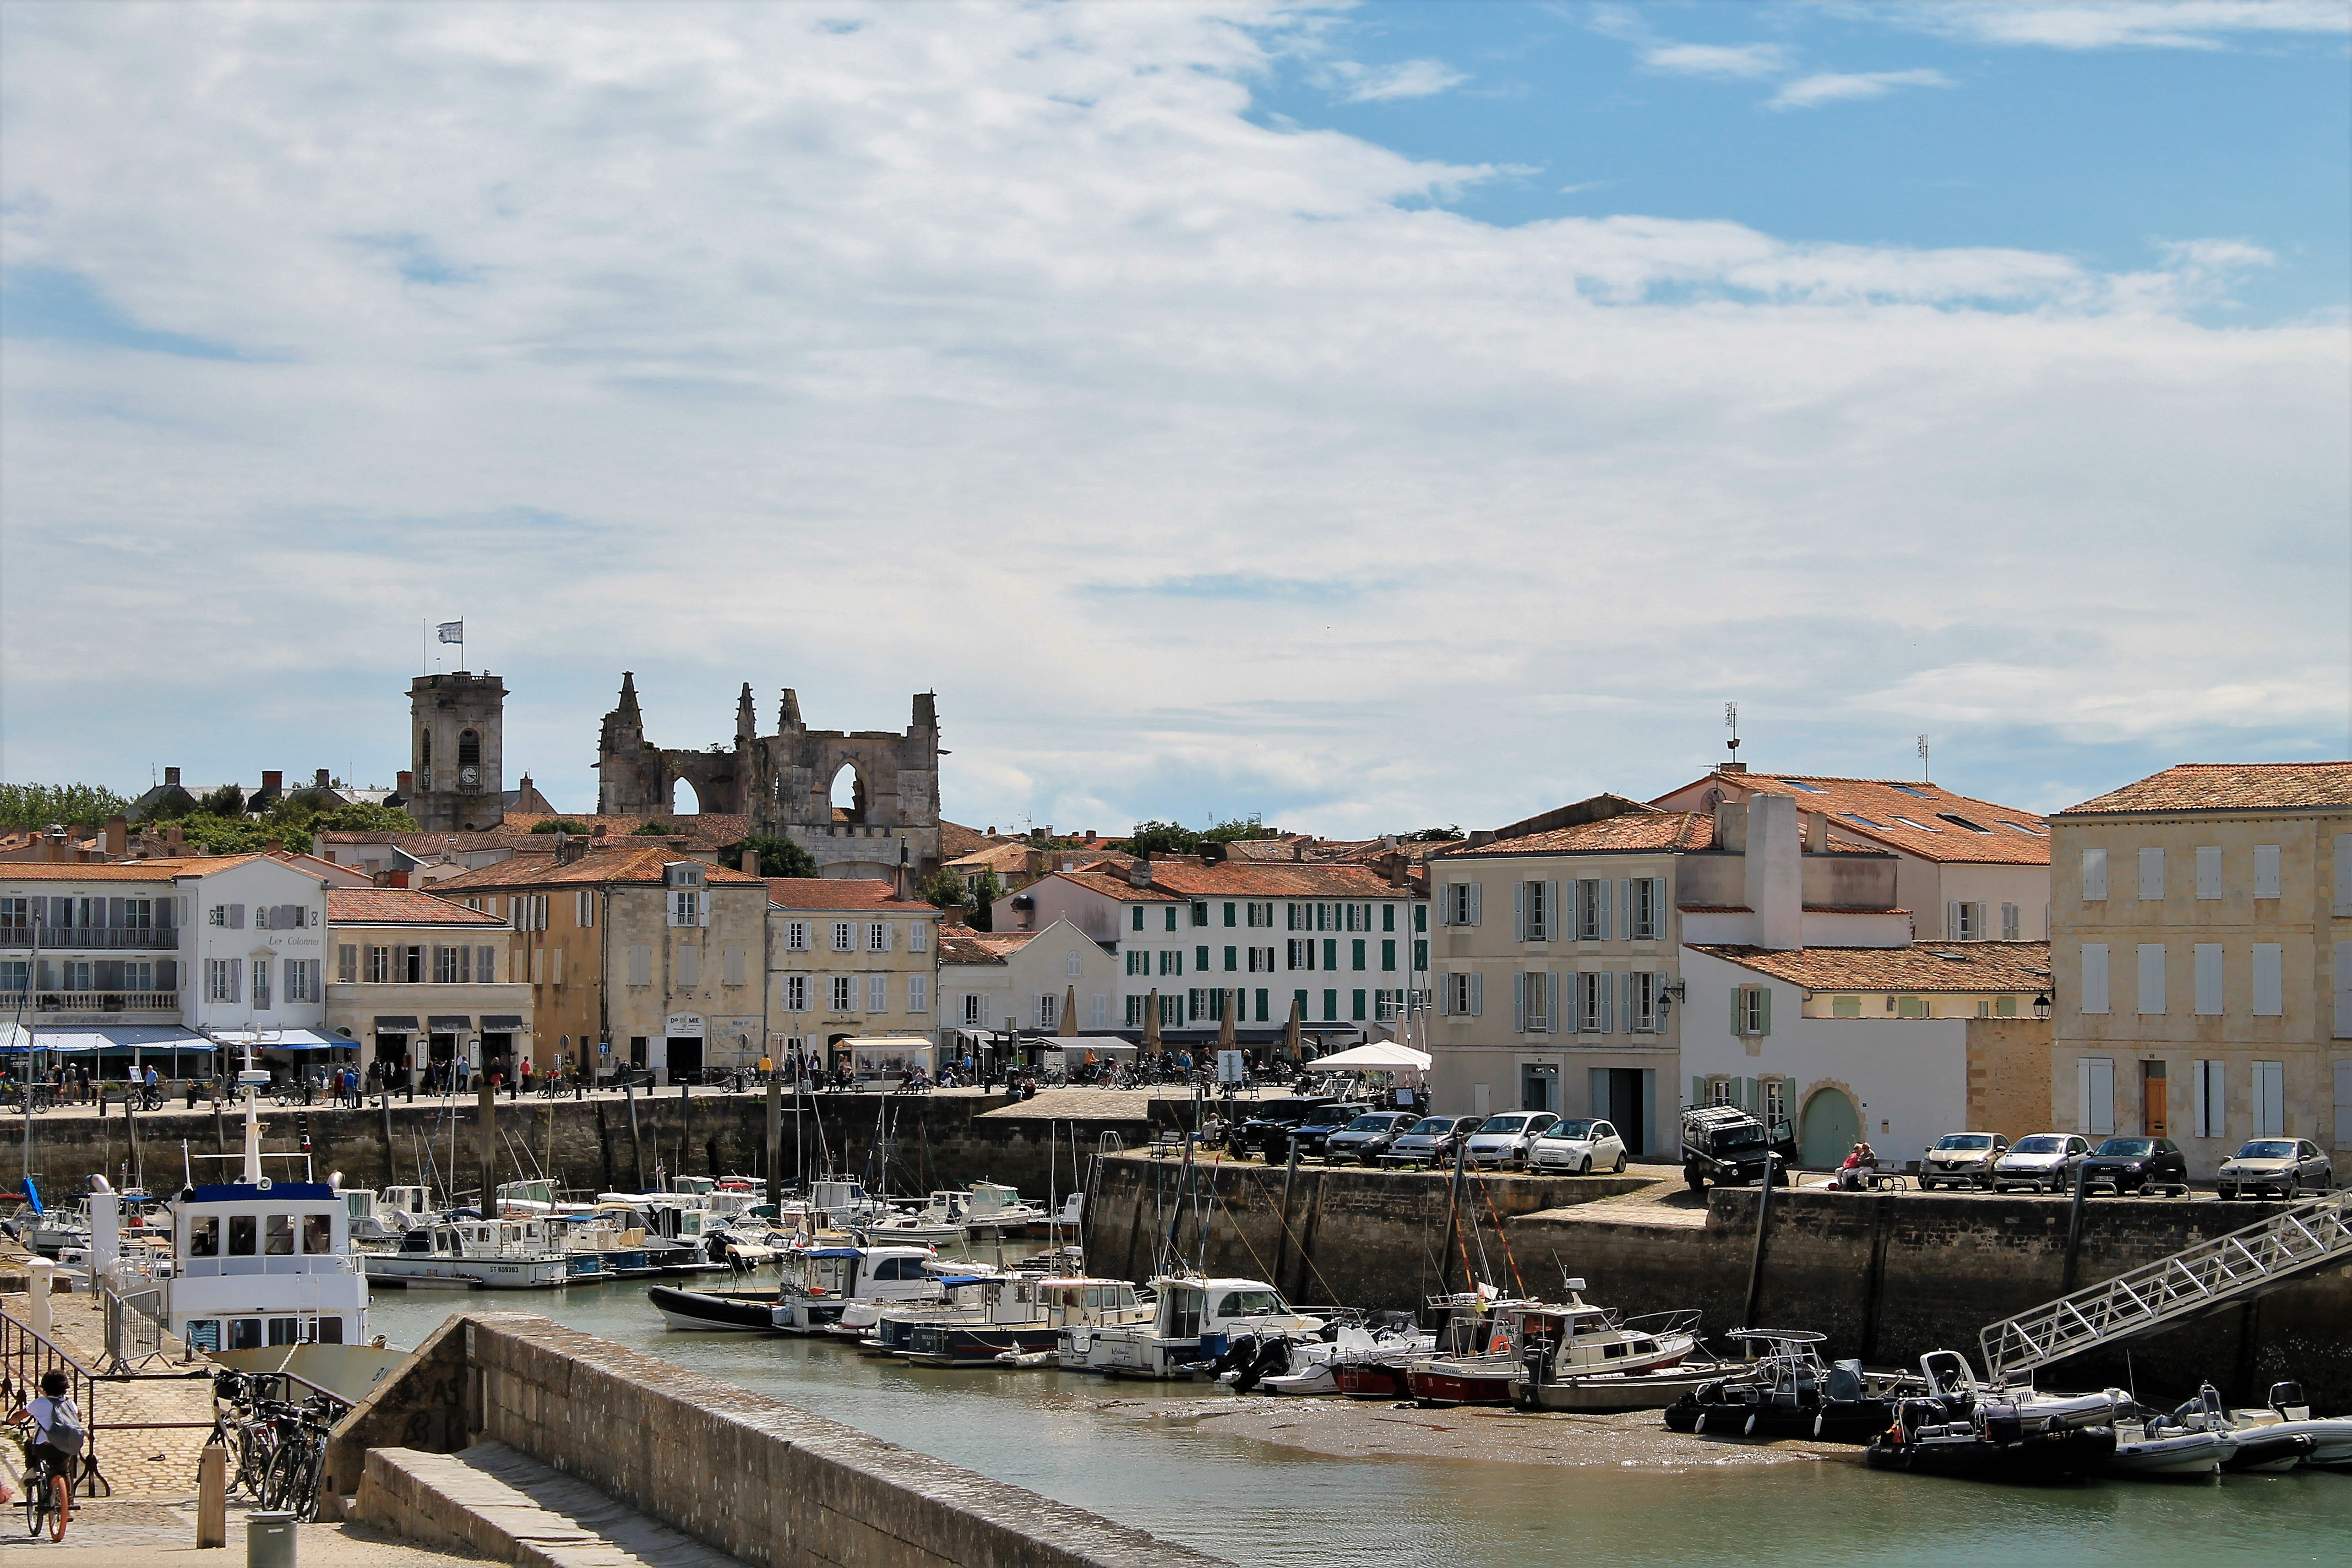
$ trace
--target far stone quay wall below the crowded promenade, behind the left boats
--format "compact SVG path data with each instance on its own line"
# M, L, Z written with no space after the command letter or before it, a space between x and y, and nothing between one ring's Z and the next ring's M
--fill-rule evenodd
M889 1126L891 1192L929 1192L974 1180L997 1180L1042 1201L1049 1185L1068 1192L1073 1180L1073 1133L1084 1154L1096 1150L1101 1133L1117 1133L1129 1147L1148 1143L1155 1121L1145 1117L1065 1117L985 1112L1011 1105L1009 1095L877 1095L821 1093L783 1103L783 1168L804 1171L811 1164L849 1175L870 1175L880 1166L882 1124ZM1176 1100L1152 1100L1150 1114L1174 1126L1183 1110ZM456 1187L480 1185L480 1112L473 1095L454 1103L414 1103L395 1098L390 1114L369 1103L365 1110L329 1105L263 1105L261 1147L270 1154L299 1150L299 1133L310 1131L313 1168L320 1180L341 1171L346 1185L386 1187L421 1182L433 1166L447 1173L454 1164ZM191 1154L233 1154L242 1147L238 1110L214 1117L209 1107L186 1110L172 1100L167 1110L125 1119L120 1100L99 1119L89 1112L42 1112L31 1126L31 1166L42 1192L80 1192L82 1178L103 1171L120 1185L129 1161L132 1133L151 1190L176 1190L183 1171L181 1145ZM621 1095L586 1100L546 1100L536 1095L501 1098L492 1119L499 1150L499 1180L536 1175L541 1168L574 1192L637 1190L654 1180L656 1164L687 1175L767 1175L767 1095L760 1091L722 1093L701 1088L680 1095L668 1088L635 1098L635 1138L630 1105ZM24 1121L0 1126L0 1143L24 1135ZM454 1138L452 1138L454 1135ZM430 1147L430 1154L428 1154ZM14 1164L14 1159L12 1159ZM1051 1182L1049 1182L1051 1164ZM219 1164L195 1159L198 1180ZM289 1166L268 1161L270 1175ZM435 1185L447 1185L435 1180Z

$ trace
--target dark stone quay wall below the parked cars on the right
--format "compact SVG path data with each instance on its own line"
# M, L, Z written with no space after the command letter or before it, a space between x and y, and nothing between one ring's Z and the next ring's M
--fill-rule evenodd
M1150 1272L1167 1237L1181 1161L1105 1161L1087 1253L1098 1272ZM1479 1241L1461 1218L1446 1248L1449 1175L1301 1166L1279 1225L1282 1166L1197 1161L1178 1251L1211 1274L1272 1279L1291 1300L1418 1307L1461 1288L1463 1248L1477 1274L1557 1295L1562 1274L1625 1314L1698 1309L1710 1335L1743 1326L1811 1328L1830 1356L1910 1366L1950 1347L1978 1359L1978 1328L2065 1293L2067 1201L2037 1197L1851 1194L1776 1190L1764 1237L1757 1324L1743 1324L1757 1248L1757 1192L1597 1201L1632 1178L1489 1175L1465 1185ZM1202 1253L1200 1213L1209 1213ZM2154 1262L2274 1213L2274 1204L2096 1199L2084 1208L2077 1288ZM1451 1253L1451 1267L1439 1258ZM2129 1349L2129 1359L2126 1359ZM2321 1410L2352 1410L2352 1265L2321 1269L2253 1302L2077 1356L2051 1387L2138 1387L2187 1399L2211 1380L2260 1403L2298 1380Z

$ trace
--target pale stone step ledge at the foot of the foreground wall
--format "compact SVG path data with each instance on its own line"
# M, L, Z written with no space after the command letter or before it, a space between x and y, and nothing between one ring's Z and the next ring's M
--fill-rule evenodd
M369 1448L355 1519L517 1568L739 1568L506 1443Z

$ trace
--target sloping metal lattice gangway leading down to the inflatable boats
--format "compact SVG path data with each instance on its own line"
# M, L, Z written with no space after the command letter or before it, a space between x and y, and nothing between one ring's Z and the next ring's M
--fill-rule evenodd
M2004 1373L2027 1373L2225 1302L2251 1300L2331 1262L2352 1262L2352 1192L2307 1199L2227 1237L1990 1324L1976 1335L1985 1375L1999 1382Z

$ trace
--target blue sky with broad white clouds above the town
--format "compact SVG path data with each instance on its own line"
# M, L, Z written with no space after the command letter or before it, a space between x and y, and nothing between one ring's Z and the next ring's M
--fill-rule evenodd
M0 7L0 776L2352 755L2352 0Z

